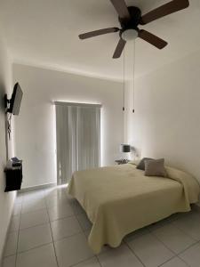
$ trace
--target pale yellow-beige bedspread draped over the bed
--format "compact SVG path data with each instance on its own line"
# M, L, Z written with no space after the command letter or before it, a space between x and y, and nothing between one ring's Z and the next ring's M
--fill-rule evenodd
M166 167L168 176L147 177L134 165L76 172L68 193L84 207L92 222L89 245L118 247L124 236L165 217L190 210L198 201L199 185L191 175Z

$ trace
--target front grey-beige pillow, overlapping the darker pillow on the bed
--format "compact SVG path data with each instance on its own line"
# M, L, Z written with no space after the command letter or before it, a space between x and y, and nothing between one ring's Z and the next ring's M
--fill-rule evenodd
M146 159L145 160L145 176L166 177L166 171L164 169L164 158Z

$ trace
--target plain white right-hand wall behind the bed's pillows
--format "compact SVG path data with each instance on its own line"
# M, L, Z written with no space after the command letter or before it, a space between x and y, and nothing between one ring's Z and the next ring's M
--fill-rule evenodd
M141 157L164 157L200 181L200 52L140 77L135 84L129 142Z

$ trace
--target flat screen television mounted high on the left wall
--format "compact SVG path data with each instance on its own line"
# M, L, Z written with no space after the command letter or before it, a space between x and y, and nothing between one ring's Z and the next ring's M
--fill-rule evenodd
M12 113L13 115L19 115L22 95L23 92L20 89L19 83L15 84L12 92L12 98L10 100L10 106L9 109L7 109L7 112Z

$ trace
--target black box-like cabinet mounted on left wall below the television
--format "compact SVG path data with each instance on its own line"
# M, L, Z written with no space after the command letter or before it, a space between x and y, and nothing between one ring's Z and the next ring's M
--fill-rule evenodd
M20 190L22 182L22 161L12 163L12 166L6 166L5 173L5 192Z

